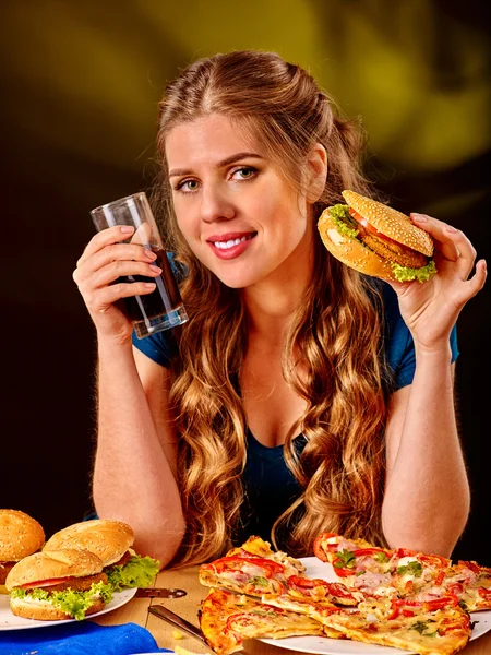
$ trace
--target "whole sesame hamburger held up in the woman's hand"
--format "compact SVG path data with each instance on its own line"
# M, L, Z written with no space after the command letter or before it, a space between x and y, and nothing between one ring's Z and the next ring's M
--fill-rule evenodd
M327 250L344 264L382 279L427 282L436 273L430 235L409 216L355 191L346 204L327 207L318 229Z

